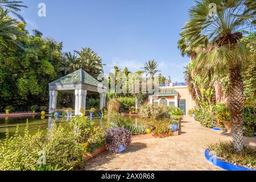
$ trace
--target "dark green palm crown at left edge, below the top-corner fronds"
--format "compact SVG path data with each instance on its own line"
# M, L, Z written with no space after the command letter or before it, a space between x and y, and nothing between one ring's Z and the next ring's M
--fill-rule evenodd
M0 44L2 46L15 44L22 48L18 38L25 37L26 34L18 30L18 22L8 17L7 13L7 10L0 10Z

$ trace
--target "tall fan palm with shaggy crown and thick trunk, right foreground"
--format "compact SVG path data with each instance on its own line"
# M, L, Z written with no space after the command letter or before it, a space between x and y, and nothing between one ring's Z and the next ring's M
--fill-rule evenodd
M207 50L201 51L195 59L197 68L229 73L230 112L232 117L232 134L234 148L237 152L243 148L242 111L243 96L242 68L250 61L250 52L240 42L241 30L255 30L255 13L253 0L217 0L216 14L209 16L212 1L198 0L189 10L189 20L183 30L183 36L189 44L196 45L204 36L210 42ZM255 7L254 7L255 9Z

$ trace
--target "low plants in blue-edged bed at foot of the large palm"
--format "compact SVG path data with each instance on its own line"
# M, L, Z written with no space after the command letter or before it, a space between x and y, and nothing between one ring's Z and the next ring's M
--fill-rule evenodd
M232 142L220 142L210 144L209 151L215 151L218 159L234 165L256 169L256 147L243 147L243 151L237 153Z

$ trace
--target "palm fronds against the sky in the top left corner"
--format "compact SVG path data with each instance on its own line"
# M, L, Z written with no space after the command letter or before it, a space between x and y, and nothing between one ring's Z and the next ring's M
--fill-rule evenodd
M16 15L20 20L26 22L24 18L18 14L18 11L21 11L23 7L27 7L22 5L23 1L13 1L13 0L0 0L0 9L8 10L14 15Z

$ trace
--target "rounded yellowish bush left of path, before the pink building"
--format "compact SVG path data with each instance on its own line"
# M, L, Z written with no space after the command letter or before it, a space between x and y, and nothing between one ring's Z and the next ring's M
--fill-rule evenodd
M140 107L139 116L144 119L163 119L168 118L167 110L163 106L156 104L146 104Z

